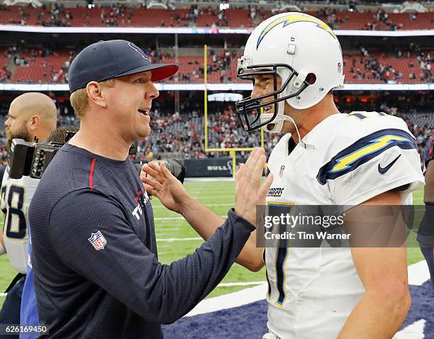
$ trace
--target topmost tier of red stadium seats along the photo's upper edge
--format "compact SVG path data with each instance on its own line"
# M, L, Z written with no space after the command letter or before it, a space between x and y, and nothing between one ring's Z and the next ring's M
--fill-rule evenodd
M45 15L43 18L38 18L42 9L33 9L31 7L22 6L9 6L8 11L0 11L0 23L8 24L20 24L26 23L26 25L40 25L41 22L50 21L50 8L45 9ZM66 18L65 11L68 11L72 18ZM106 7L104 9L106 15L109 15L111 8ZM217 26L222 26L221 21L214 13L204 13L199 14L199 16L194 20L189 20L188 15L189 9L176 9L176 10L165 10L165 9L145 9L145 8L135 8L131 9L130 22L128 22L128 11L126 10L125 17L118 16L116 20L116 26L134 26L134 27L158 27L164 26L170 27L184 27L184 26L197 26L206 27L212 26L214 23ZM240 27L252 27L255 22L250 17L250 11L248 9L228 9L223 12L228 21L228 27L230 28L240 28ZM319 16L318 12L308 12L313 16ZM389 21L395 21L399 29L405 30L416 30L416 29L431 29L434 23L434 12L428 13L417 13L416 20L411 20L408 13L388 13ZM259 21L271 16L272 13L265 11L264 15L258 17ZM176 18L175 18L176 17ZM374 12L349 12L349 11L338 11L335 13L335 17L342 19L343 22L338 22L339 29L357 29L362 30L365 28L367 23L374 22ZM59 21L63 23L50 23L48 26L107 26L113 23L103 23L101 21L101 8L96 7L93 9L87 9L86 7L79 8L67 8L60 10L58 15ZM325 16L322 19L326 22L330 21L329 17ZM340 20L338 20L340 21ZM377 23L377 29L379 30L389 30L390 28L383 22Z

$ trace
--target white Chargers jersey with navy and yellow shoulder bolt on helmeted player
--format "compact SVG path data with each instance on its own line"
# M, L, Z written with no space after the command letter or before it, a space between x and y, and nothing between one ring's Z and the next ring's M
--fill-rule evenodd
M358 205L410 184L423 187L414 137L401 118L334 114L289 152L286 134L269 157L267 204ZM397 160L396 160L397 159ZM391 166L391 162L394 162ZM265 248L269 331L282 339L335 339L365 292L350 248Z

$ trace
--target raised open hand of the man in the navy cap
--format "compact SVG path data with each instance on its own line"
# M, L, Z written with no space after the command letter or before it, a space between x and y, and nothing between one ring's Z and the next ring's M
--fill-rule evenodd
M266 161L265 150L254 148L245 164L241 164L235 174L235 213L253 225L256 224L256 206L265 205L267 191L273 182L270 173L261 185Z

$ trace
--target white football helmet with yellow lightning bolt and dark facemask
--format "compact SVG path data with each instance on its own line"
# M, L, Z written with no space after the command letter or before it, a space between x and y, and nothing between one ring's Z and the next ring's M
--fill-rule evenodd
M238 79L271 74L272 93L236 103L244 130L264 126L279 133L284 116L284 102L294 109L308 109L318 104L331 89L343 87L343 57L333 30L323 21L298 12L280 13L262 22L250 34L244 55L238 60ZM277 75L282 79L277 88ZM267 101L265 101L267 99ZM262 101L262 102L261 102ZM272 113L261 109L272 106Z

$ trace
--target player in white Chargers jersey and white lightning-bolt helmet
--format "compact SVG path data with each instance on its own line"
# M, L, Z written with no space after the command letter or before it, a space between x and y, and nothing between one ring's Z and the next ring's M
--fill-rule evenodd
M238 61L250 97L244 130L285 133L269 157L269 205L411 204L423 187L413 135L401 118L343 114L338 38L318 18L280 13L250 35ZM263 113L261 113L263 111ZM391 338L411 305L406 248L265 248L264 338Z

